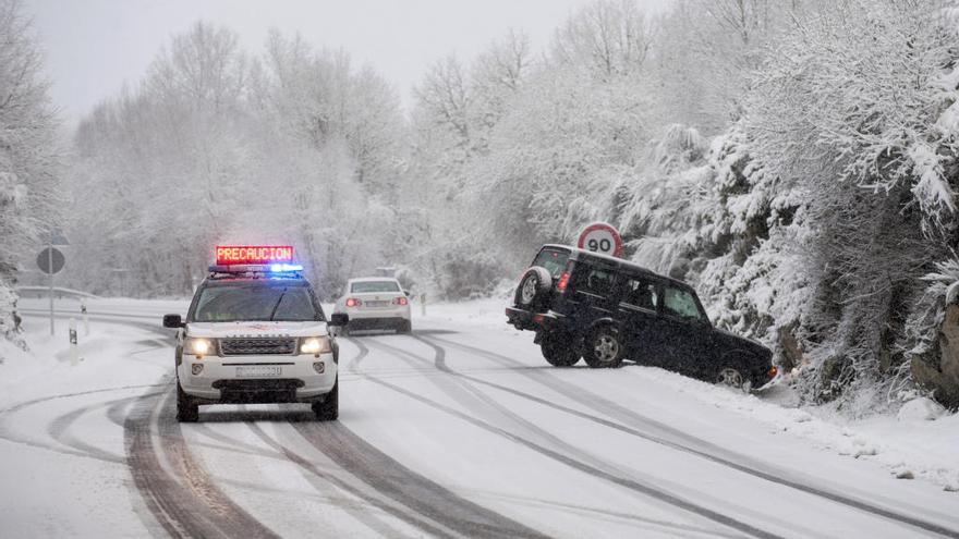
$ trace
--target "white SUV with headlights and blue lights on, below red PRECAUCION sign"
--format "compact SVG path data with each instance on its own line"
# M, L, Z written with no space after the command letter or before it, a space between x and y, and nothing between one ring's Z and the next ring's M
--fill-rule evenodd
M348 320L327 321L298 271L214 271L185 320L163 317L163 327L179 329L177 419L198 420L201 404L247 403L311 403L318 419L336 419L339 348L329 327Z

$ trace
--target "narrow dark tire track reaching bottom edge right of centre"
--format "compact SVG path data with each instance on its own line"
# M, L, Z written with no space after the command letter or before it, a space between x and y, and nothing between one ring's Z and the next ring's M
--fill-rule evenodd
M365 355L366 353L368 353L368 348L366 348L365 345L363 345L362 343L360 343L359 341L355 341L355 340L352 342L361 348L361 354ZM445 362L440 360L438 364L445 365ZM434 409L442 412L447 415L457 417L457 418L459 418L463 421L466 421L475 427L478 427L480 429L486 430L487 432L497 434L501 438L505 438L505 439L510 440L512 442L515 442L520 445L523 445L523 446L525 446L536 453L539 453L548 458L551 458L556 462L559 462L560 464L565 464L573 469L578 469L580 471L583 471L586 475L590 475L590 476L593 476L593 477L596 477L599 479L605 479L609 482L619 485L620 487L632 490L634 492L645 494L648 498L653 499L654 501L664 502L664 503L672 505L677 509L687 511L687 512L692 513L694 515L697 515L700 517L704 517L706 519L713 520L717 524L720 524L723 526L727 526L731 529L741 531L743 534L746 534L746 535L750 535L753 537L758 537L758 538L763 538L763 539L779 539L780 538L780 536L778 536L776 534L765 531L765 530L760 529L751 524L748 524L748 523L741 522L739 519L732 518L730 516L724 515L724 514L718 513L716 511L713 511L708 507L701 506L696 503L693 503L689 500L685 500L681 497L675 495L672 493L669 493L669 492L664 491L661 489L658 489L656 487L646 485L644 482L636 481L632 478L622 477L622 476L606 471L604 469L597 468L595 466L591 466L588 464L585 464L585 463L578 461L575 458L572 458L566 454L559 453L559 452L554 451L549 448L541 445L536 442L530 441L519 434L515 434L515 433L510 432L506 429L499 428L495 425L491 425L487 421L484 421L483 419L478 419L478 418L473 417L469 414L460 412L456 408L449 407L445 404L441 404L441 403L438 403L438 402L433 401L430 399L427 399L425 396L422 396L422 395L414 393L413 391L410 391L408 389L392 384L392 383L387 382L385 380L380 380L380 379L376 378L374 375L366 375L365 378L374 383L377 383L377 384L383 385L387 389L390 389L397 393L405 395L414 401L418 401L420 403L425 404L426 406L429 406Z

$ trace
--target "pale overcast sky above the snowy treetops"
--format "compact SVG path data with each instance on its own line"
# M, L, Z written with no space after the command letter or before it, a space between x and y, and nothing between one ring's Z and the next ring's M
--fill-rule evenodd
M239 33L258 53L269 28L300 32L315 47L343 48L389 79L405 105L437 59L468 60L508 28L535 50L590 0L26 0L46 51L52 97L69 124L97 102L135 86L172 34L197 21ZM670 0L636 0L646 11Z

